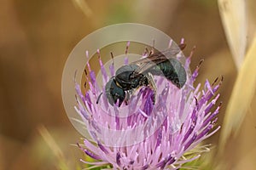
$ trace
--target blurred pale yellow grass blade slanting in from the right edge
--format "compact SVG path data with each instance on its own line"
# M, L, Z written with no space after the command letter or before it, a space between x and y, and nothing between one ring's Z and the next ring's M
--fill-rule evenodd
M233 88L230 102L224 116L224 125L221 132L220 144L224 147L226 140L230 137L230 133L235 135L241 126L244 116L253 99L256 88L256 36L248 50L246 58L241 65L236 78L235 87Z

